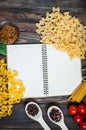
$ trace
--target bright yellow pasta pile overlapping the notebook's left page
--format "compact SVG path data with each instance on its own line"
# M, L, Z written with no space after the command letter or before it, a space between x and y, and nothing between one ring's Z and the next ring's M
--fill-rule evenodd
M25 87L21 80L15 79L17 75L6 68L4 59L0 60L0 118L11 115L13 105L23 97Z

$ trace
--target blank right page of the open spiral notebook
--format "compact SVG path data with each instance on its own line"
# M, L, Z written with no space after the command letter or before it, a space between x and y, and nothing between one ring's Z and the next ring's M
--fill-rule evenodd
M49 95L68 95L81 83L81 61L47 46Z

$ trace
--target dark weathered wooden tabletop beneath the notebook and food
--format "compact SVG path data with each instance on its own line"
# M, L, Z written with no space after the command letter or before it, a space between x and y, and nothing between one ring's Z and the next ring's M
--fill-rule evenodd
M52 7L60 7L61 11L69 11L72 16L80 19L81 23L86 25L86 0L0 0L0 22L11 20L16 22L20 29L19 43L39 43L39 35L35 32L36 25L47 11ZM86 68L86 60L82 60L82 68ZM86 77L86 71L82 73ZM59 98L64 100L67 96L36 98L35 101L43 110L43 117L52 130L60 128L52 124L47 117L47 108L50 103L56 103L65 116L65 123L69 130L79 130L79 127L73 123L68 114L68 103L59 103ZM14 105L13 113L9 117L0 119L0 130L43 130L41 125L29 119L24 111L25 104L32 99L23 99L19 104ZM83 102L86 103L86 98Z

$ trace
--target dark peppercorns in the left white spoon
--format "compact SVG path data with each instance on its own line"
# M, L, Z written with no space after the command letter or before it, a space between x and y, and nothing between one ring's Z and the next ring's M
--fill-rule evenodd
M29 104L27 107L27 112L31 115L31 116L36 116L39 112L38 107L35 104Z

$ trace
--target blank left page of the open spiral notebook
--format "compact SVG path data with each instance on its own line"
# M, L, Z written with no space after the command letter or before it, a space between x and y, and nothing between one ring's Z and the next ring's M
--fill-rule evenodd
M40 97L43 95L41 46L8 45L8 68L19 73L25 85L25 97Z

